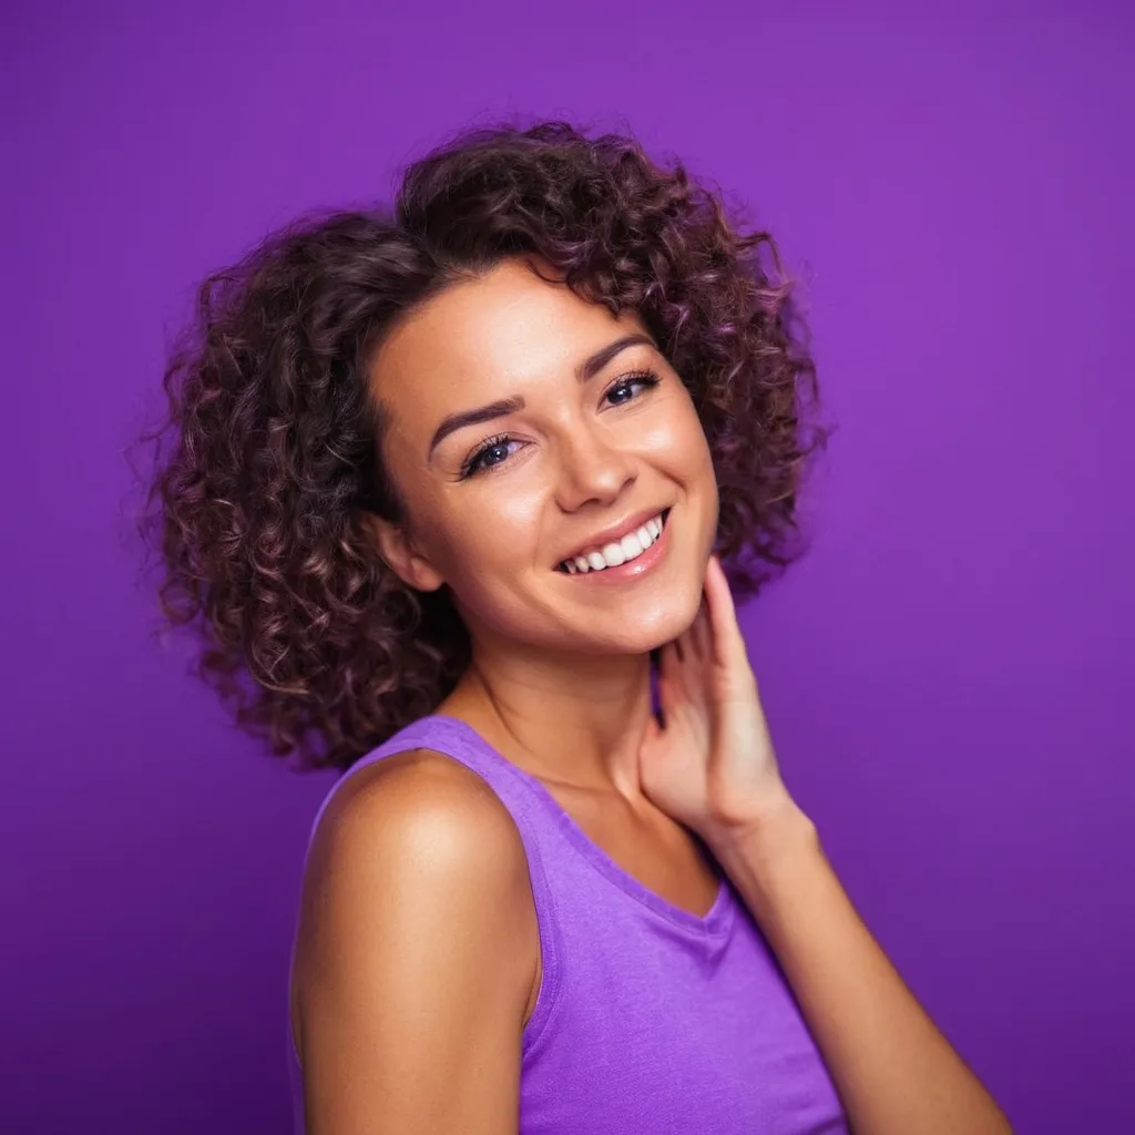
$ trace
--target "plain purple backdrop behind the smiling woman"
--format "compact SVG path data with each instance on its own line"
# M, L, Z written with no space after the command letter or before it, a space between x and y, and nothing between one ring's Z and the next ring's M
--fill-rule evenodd
M1125 8L7 5L0 1128L287 1129L329 781L150 636L124 451L193 281L519 111L625 121L806 279L840 430L743 612L785 776L1017 1129L1135 1129Z

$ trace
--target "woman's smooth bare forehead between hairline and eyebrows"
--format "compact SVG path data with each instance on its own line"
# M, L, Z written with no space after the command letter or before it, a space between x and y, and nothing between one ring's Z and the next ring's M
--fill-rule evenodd
M424 429L454 410L572 377L581 359L641 329L633 312L616 318L527 263L505 261L406 317L372 362L371 388L394 421Z

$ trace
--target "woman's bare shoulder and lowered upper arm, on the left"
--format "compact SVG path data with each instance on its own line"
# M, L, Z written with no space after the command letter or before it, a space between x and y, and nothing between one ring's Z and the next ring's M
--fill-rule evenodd
M320 1129L510 1129L537 966L523 843L489 785L421 749L352 774L312 839L292 973Z

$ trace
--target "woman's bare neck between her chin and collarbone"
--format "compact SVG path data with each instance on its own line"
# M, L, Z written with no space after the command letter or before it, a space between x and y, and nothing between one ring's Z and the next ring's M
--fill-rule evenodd
M474 642L439 713L471 724L515 764L549 782L641 796L638 747L650 715L650 661L553 655Z

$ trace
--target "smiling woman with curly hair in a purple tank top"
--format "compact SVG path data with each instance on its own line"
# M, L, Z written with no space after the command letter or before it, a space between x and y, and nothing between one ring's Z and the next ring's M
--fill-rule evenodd
M351 770L293 958L311 1135L1009 1129L824 858L738 631L721 561L792 558L824 439L762 251L548 123L203 287L166 607L246 726Z

